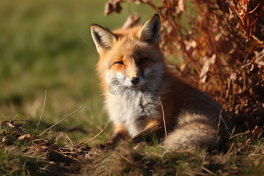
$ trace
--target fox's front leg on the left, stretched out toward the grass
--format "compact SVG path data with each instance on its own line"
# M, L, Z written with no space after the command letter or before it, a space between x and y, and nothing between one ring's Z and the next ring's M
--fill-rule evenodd
M115 127L114 134L108 139L108 141L104 144L97 144L94 145L91 150L91 155L96 155L98 153L102 153L103 151L112 150L116 143L118 143L120 140L127 140L128 134L123 126L117 126Z

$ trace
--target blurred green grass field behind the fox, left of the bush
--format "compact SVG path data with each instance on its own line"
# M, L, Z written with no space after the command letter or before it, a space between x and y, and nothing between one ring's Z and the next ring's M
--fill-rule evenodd
M91 38L90 24L121 27L128 14L136 11L145 22L155 13L149 6L121 4L121 14L103 16L107 0L0 1L0 120L38 121L47 98L36 134L80 107L76 114L57 124L52 131L72 127L72 141L86 142L107 123L102 108L99 82L95 74L98 54ZM18 122L16 122L18 123ZM20 123L20 122L19 122ZM37 124L26 123L34 133ZM105 142L111 125L95 141ZM64 143L69 140L60 137Z

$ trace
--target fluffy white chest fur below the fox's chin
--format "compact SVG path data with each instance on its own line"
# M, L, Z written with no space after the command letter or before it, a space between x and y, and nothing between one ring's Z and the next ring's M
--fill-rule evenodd
M151 95L152 94L152 95ZM149 117L158 117L160 106L157 92L125 89L119 95L106 95L106 107L114 125L123 125L131 135L137 135L146 127Z

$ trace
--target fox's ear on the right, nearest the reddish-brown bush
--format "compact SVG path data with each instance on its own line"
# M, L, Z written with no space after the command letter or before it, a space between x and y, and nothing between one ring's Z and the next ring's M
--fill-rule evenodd
M143 41L160 42L161 19L159 14L153 14L141 28L138 37Z

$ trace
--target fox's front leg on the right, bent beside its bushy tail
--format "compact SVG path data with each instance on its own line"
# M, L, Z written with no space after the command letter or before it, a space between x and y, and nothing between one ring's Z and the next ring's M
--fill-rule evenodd
M150 142L152 140L152 134L156 134L157 138L165 136L164 122L160 119L149 120L145 129L139 132L137 135L128 140L129 143L139 143L141 141Z

